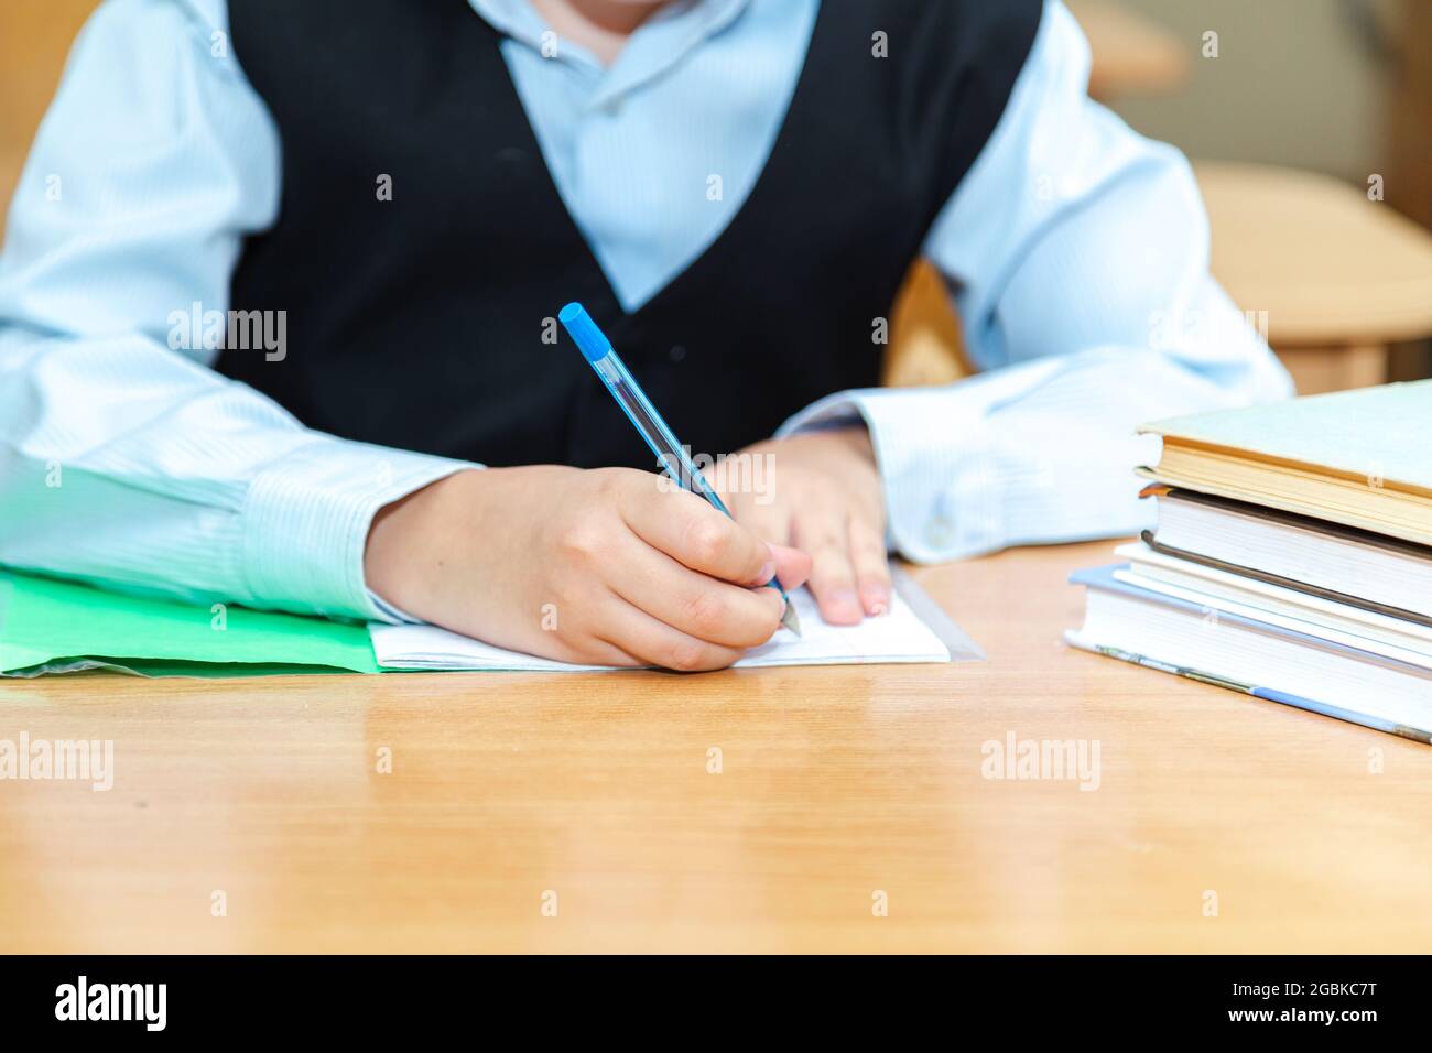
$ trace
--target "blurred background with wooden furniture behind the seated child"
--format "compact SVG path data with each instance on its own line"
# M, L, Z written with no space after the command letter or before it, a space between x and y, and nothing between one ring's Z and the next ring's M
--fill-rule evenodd
M0 0L0 201L96 0ZM1432 375L1432 0L1070 0L1090 92L1196 163L1213 269L1303 393ZM938 278L892 384L965 371Z

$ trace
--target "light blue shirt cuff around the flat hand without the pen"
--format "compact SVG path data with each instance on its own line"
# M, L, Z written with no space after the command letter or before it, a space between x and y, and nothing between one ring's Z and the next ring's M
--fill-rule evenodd
M842 391L808 405L776 437L862 420L885 487L891 547L916 563L1004 547L990 428L949 388Z

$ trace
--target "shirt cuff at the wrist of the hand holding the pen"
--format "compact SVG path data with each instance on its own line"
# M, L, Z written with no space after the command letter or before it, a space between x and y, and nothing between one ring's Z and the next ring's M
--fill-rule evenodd
M401 620L364 580L372 517L385 504L478 464L322 436L263 468L243 507L253 602L369 622Z

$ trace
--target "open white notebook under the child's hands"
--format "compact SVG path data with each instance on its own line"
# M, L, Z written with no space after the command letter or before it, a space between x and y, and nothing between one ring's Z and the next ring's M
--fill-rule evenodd
M891 597L889 613L868 617L859 625L826 625L816 610L815 599L805 589L793 593L790 599L800 617L803 635L796 636L788 629L779 629L769 643L752 648L736 662L736 668L951 662L984 658L979 648L905 574L896 574L896 592ZM528 672L610 669L610 666L569 665L518 650L505 650L431 625L369 625L368 633L372 636L378 665L388 669Z

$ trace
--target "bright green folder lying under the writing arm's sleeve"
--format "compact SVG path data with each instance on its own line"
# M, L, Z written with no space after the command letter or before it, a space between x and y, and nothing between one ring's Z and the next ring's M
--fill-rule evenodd
M146 676L379 672L361 625L216 612L0 570L0 675L96 666Z

